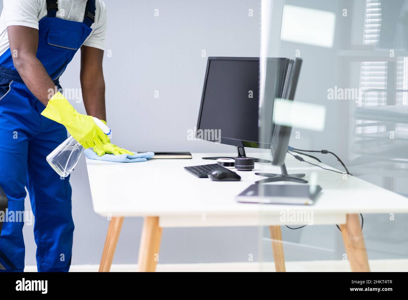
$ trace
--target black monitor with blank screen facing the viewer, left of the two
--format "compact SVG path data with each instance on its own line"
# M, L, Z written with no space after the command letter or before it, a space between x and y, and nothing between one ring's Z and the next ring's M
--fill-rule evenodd
M268 58L268 85L275 98L282 97L290 60ZM273 130L273 101L264 105ZM204 136L204 138L203 138ZM259 137L259 58L209 57L207 61L197 138L237 147L237 156L246 156L244 147L269 149L271 136ZM217 159L208 157L204 159ZM269 162L256 159L257 162Z

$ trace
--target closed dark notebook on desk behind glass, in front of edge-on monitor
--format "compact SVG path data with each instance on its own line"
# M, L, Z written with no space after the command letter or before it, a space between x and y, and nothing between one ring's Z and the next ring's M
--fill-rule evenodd
M252 184L236 200L244 203L312 205L322 191L319 185Z

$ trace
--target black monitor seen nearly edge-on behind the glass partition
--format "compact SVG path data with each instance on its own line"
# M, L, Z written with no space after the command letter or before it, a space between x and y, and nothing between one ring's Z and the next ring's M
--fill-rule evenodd
M301 66L302 59L297 58L288 74L288 81L287 85L284 87L284 96L282 97L283 99L293 100L295 98L297 81L299 80ZM275 111L275 113L279 113L279 111ZM290 126L275 124L271 140L272 164L275 166L280 166L282 174L255 173L256 175L268 177L266 179L257 181L257 184L277 181L307 183L307 180L302 179L305 174L288 174L288 172L286 171L285 158L288 151L291 131L292 127Z

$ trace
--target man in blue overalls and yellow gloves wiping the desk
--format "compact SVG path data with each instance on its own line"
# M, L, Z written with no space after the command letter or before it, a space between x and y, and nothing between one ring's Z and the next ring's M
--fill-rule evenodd
M0 30L0 186L8 198L8 214L24 212L27 187L38 271L69 271L71 186L46 156L67 138L67 130L100 156L129 153L111 144L92 119L106 120L104 2L4 0ZM80 48L82 96L89 116L75 111L58 91L60 76ZM23 220L9 218L2 225L0 271L23 271Z

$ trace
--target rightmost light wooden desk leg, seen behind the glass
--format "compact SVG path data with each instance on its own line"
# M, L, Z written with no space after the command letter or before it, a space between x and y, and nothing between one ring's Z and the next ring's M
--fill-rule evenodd
M359 215L347 214L346 224L341 224L340 229L351 271L370 272Z

